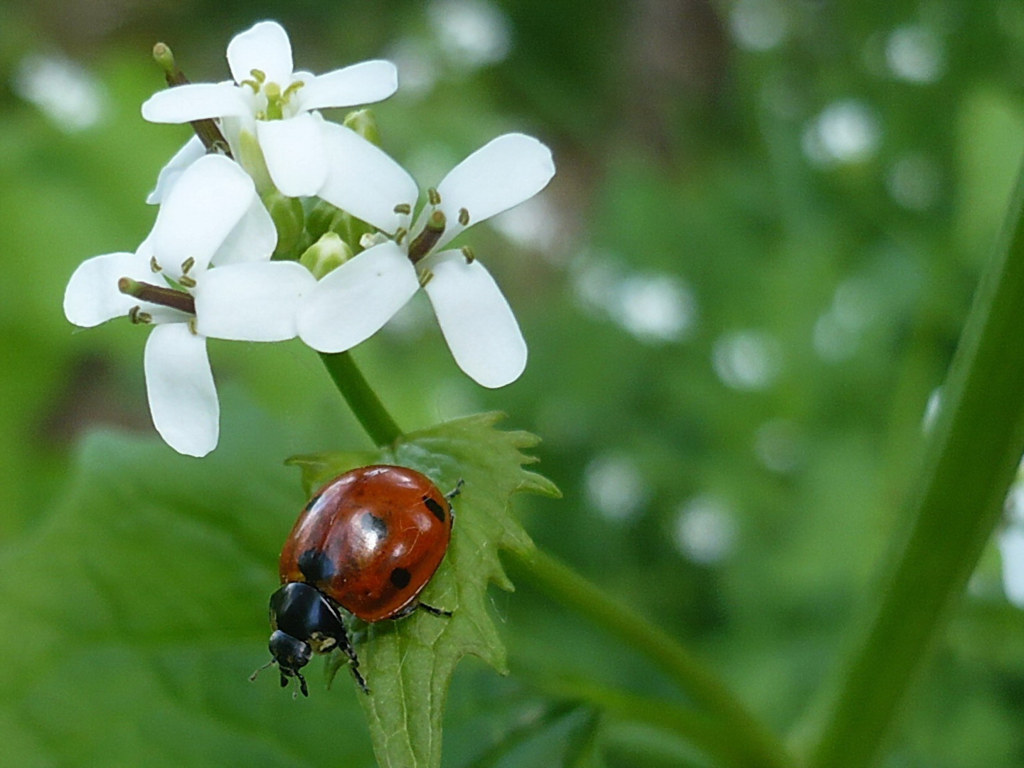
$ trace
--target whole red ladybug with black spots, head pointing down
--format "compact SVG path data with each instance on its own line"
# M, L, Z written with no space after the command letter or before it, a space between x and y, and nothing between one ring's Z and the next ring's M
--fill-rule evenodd
M461 485L444 495L415 470L376 465L339 475L313 495L285 542L282 587L270 596L269 664L278 665L282 687L298 678L308 696L299 670L313 653L339 648L369 692L341 608L368 623L417 608L452 615L419 595L447 551L451 499Z

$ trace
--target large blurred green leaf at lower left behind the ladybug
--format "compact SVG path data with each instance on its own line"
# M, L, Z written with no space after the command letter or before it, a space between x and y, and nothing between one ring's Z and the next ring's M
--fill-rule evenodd
M354 691L293 700L266 604L303 499L247 414L202 461L85 440L68 492L0 552L0 763L289 766L373 761ZM236 426L239 422L236 422Z

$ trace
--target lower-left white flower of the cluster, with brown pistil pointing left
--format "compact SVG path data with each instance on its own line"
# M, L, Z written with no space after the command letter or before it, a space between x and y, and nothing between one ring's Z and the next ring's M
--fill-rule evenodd
M296 335L299 301L315 281L300 264L269 261L276 242L252 179L227 158L208 155L180 174L135 253L88 259L68 283L65 314L77 326L124 314L155 326L144 355L150 413L181 454L206 456L217 444L206 337Z

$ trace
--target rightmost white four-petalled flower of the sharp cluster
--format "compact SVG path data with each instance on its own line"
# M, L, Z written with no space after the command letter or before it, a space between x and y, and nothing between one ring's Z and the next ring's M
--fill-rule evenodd
M327 124L324 137L328 177L319 197L392 239L316 285L299 310L302 340L323 352L349 349L423 285L459 367L485 387L515 381L526 366L526 343L508 302L468 249L439 249L470 224L541 191L555 173L550 150L521 133L499 136L431 190L433 200L412 225L419 189L409 173L343 126Z

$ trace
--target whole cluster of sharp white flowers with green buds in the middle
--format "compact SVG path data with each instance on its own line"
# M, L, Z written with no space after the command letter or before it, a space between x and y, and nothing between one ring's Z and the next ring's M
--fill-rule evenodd
M217 444L207 337L298 336L321 352L341 352L376 333L420 288L467 375L485 387L519 377L526 344L508 302L468 246L444 247L547 185L554 164L544 144L499 136L421 204L401 166L318 112L390 96L397 88L391 62L295 72L288 35L274 22L231 40L230 81L188 83L166 47L158 53L172 87L145 101L142 117L190 122L197 135L161 171L147 200L160 209L142 244L83 262L63 306L69 321L86 328L122 315L154 326L146 392L154 425L171 447L205 456Z

